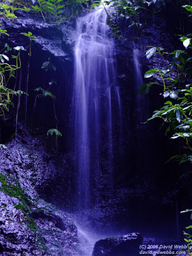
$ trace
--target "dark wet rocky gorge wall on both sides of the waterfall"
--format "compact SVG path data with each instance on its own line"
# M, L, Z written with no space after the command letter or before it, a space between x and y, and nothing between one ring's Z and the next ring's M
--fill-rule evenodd
M81 255L77 228L72 218L60 211L72 212L76 202L74 189L77 180L73 175L74 159L70 151L69 127L74 72L73 49L76 37L75 20L56 26L34 20L22 13L18 14L19 18L14 22L3 20L3 28L8 30L10 36L2 36L1 46L8 42L10 46L24 45L28 49L28 38L20 35L26 31L31 31L36 38L32 44L30 60L28 122L25 129L23 98L17 140L12 139L7 143L7 149L0 148L1 173L5 175L1 176L1 188L3 184L12 184L8 188L12 190L12 186L17 186L13 180L15 178L20 184L19 193L21 195L25 193L28 199L23 198L24 201L21 202L20 194L11 196L10 192L1 191L0 211L3 218L0 220L0 253L44 255L44 252L40 252L40 249L44 250L44 248L38 247L38 241L42 239L44 241L42 244L48 248L45 255L52 255L51 253ZM178 145L174 142L170 143L164 138L164 132L159 132L159 122L154 124L138 122L140 118L144 122L154 109L159 108L161 97L157 96L159 90L155 88L148 95L142 96L143 102L138 108L138 94L134 88L136 74L133 74L134 47L140 52L142 73L150 69L154 63L162 65L158 58L152 60L145 58L144 51L148 49L148 45L163 45L167 51L174 49L175 39L167 29L168 22L169 20L163 15L152 17L147 20L134 44L132 42L134 31L126 27L123 31L126 40L116 40L116 67L124 120L123 145L117 150L114 159L113 196L107 189L109 170L105 170L105 173L100 170L97 180L92 180L92 184L97 184L97 191L93 187L92 208L81 212L85 227L92 227L99 232L105 230L106 234L111 234L115 229L124 233L135 231L145 233L146 236L154 234L164 237L164 225L166 225L168 237L176 233L175 221L179 211L177 209L175 214L175 205L179 202L179 209L184 209L191 192L187 192L186 199L181 200L188 191L186 184L182 186L175 200L175 180L180 175L180 168L173 163L165 167L164 162L172 156L174 150L177 152ZM56 65L56 72L45 73L41 69L42 63L49 57ZM28 56L24 52L22 54L22 90L24 91L27 63ZM58 141L58 153L54 139L46 136L47 130L56 124L51 100L38 99L35 112L33 108L35 88L43 87L54 77L57 84L52 87L52 93L56 95L58 129L63 134ZM10 113L5 123L1 120L2 143L6 143L14 132L14 118L13 113ZM15 204L24 205L27 209L23 206L15 208ZM54 208L53 205L59 209ZM33 220L26 220L26 212ZM12 226L8 222L10 220ZM35 226L32 229L31 226L29 227L31 221ZM152 225L149 227L148 223Z

